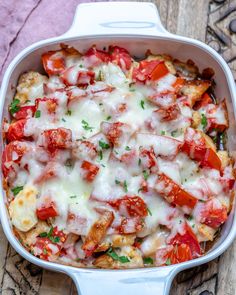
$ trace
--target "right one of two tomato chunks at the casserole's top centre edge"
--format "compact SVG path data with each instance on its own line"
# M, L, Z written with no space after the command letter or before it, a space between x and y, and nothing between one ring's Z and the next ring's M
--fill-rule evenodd
M108 49L112 62L117 63L123 70L129 70L131 67L131 56L129 52L119 46L109 46Z

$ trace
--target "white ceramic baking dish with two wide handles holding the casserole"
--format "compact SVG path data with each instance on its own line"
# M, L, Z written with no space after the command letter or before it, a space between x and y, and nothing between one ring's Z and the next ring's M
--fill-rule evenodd
M100 2L79 5L68 32L60 37L31 45L11 62L4 75L0 92L2 119L8 117L7 106L14 95L14 86L19 75L30 69L42 71L41 54L57 49L61 42L75 46L80 51L93 44L101 47L117 44L127 48L134 56L142 56L147 49L151 49L154 53L167 53L180 60L191 58L200 69L213 68L216 96L226 98L229 110L229 150L231 155L236 155L234 136L236 94L229 67L222 57L206 44L167 32L160 22L155 5L151 3ZM40 260L28 253L12 233L5 203L5 192L1 188L1 223L7 239L15 250L30 262L43 268L68 274L74 280L79 294L83 295L168 294L171 282L177 273L216 258L229 247L236 235L236 216L233 208L223 226L221 237L206 255L198 259L177 265L132 270L78 269Z

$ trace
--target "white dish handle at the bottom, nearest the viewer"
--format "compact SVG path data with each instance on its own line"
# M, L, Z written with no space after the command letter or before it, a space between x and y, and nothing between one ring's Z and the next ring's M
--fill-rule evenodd
M69 272L79 295L168 295L176 269L78 270Z

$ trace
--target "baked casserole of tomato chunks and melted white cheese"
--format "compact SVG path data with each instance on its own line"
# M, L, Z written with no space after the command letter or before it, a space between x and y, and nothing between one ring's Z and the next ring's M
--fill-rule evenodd
M235 182L214 71L147 51L61 45L19 78L4 120L13 230L36 257L97 268L204 255Z

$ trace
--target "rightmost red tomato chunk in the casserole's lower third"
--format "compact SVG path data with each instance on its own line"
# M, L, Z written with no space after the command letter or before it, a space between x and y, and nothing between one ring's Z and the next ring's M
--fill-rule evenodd
M209 200L202 204L201 223L217 229L227 220L227 208L217 200Z

